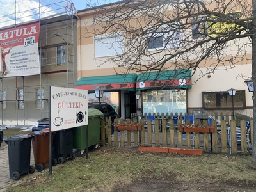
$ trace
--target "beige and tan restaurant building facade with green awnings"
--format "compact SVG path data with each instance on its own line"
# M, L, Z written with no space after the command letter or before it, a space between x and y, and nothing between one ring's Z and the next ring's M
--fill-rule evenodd
M114 3L106 5L101 11L104 12L108 7L116 10L120 8L118 3ZM200 70L196 71L191 71L189 68L179 71L170 67L161 71L160 75L154 71L130 70L127 72L125 67L115 65L109 60L111 57L115 58L116 55L122 54L122 50L115 43L125 41L125 35L122 35L124 37L122 38L113 35L111 31L105 35L93 33L95 15L99 14L99 10L100 8L89 8L77 12L77 18L79 18L77 76L79 79L76 88L88 90L91 102L97 102L94 90L102 89L104 97L100 101L118 106L116 112L121 118L130 118L130 114L136 112L140 114L169 113L169 115L170 113L203 115L205 112L232 114L232 97L228 95L228 90L234 88L237 90L233 100L235 112L252 116L252 92L248 92L244 79L239 77L251 77L252 50L250 48L243 53L244 60L237 62L234 67L231 67L232 69L225 66L216 68L212 63L218 63L218 61L209 58L204 63L200 63L198 65ZM102 12L100 13L104 15ZM102 31L100 27L97 26L97 30ZM191 36L193 36L192 33L191 31ZM241 40L241 44L248 44L248 42L248 38ZM147 51L154 51L152 48L158 46L158 43L148 40ZM111 47L107 44L111 44ZM227 60L231 60L231 55L236 55L236 46L234 44L233 46L232 49L223 48ZM170 45L169 49L173 48L175 47ZM214 72L202 76L209 72L211 65L212 71L215 68ZM136 99L136 93L140 94L139 99Z

